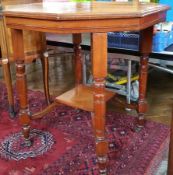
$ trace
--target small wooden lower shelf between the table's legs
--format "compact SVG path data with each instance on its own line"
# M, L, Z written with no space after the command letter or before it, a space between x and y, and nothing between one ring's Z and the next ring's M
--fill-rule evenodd
M58 96L56 102L63 103L74 108L93 111L93 87L79 85L64 94ZM105 99L108 101L115 93L105 89Z

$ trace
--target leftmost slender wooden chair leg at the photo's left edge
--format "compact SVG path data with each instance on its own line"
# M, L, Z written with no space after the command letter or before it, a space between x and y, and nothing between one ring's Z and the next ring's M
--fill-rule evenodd
M14 118L16 113L14 110L14 97L13 97L13 88L12 88L12 80L11 80L11 73L10 73L10 65L8 59L2 59L2 67L4 71L4 80L7 87L7 94L8 94L8 102L9 102L9 113L10 118Z

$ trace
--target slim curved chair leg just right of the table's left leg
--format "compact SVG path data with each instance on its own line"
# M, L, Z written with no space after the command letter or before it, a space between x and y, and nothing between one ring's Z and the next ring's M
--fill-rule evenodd
M44 83L44 93L46 97L47 105L51 103L50 93L49 93L49 61L48 52L44 52L41 58L42 70L43 70L43 83Z

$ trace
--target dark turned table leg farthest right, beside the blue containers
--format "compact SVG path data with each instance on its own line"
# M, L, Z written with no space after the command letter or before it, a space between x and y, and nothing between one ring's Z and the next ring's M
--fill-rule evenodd
M148 59L152 50L153 27L144 29L140 35L140 70L137 130L144 126L144 115L147 112L146 88L148 76Z

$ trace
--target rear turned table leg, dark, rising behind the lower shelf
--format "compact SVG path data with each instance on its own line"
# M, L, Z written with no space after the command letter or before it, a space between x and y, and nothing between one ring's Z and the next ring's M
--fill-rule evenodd
M79 85L82 83L82 51L81 51L81 34L73 34L73 45L74 45L74 60L75 60L75 84Z

